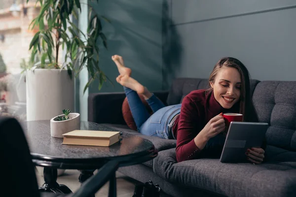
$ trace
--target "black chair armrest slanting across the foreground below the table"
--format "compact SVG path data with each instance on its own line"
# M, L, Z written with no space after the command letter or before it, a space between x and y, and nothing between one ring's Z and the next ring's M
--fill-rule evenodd
M89 197L95 193L109 181L118 169L118 162L109 161L99 171L87 179L81 187L70 197Z

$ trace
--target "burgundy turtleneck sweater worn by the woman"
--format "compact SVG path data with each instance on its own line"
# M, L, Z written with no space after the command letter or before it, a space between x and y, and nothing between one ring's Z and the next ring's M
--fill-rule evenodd
M172 130L177 137L177 162L198 158L200 150L194 143L194 137L214 116L221 112L239 112L239 102L232 108L225 109L215 99L214 94L206 94L205 91L192 91L182 101L181 113Z

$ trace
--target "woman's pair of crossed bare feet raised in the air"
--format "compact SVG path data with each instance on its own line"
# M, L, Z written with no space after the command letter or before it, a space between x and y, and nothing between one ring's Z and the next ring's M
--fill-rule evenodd
M145 99L149 99L152 94L148 91L146 87L140 84L137 80L133 79L130 75L132 70L124 66L123 59L121 56L114 55L112 56L113 62L116 64L119 76L116 77L116 82L122 86L136 91L138 94L142 94Z

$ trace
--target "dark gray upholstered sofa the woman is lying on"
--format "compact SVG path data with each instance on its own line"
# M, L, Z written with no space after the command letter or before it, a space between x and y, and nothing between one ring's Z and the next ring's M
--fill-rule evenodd
M206 79L178 78L169 91L154 94L165 104L181 103L190 91L207 88ZM97 93L88 98L88 120L153 142L158 156L144 164L121 167L141 182L152 180L174 197L296 197L296 81L252 80L259 121L267 122L266 163L224 164L218 159L176 162L176 140L129 130L121 113L124 93Z

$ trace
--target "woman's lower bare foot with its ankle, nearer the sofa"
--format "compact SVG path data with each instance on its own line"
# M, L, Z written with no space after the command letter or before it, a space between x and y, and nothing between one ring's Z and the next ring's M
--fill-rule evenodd
M144 99L149 99L152 96L152 94L148 91L148 89L146 87L144 87L137 80L133 79L130 76L127 76L127 75L119 75L116 78L116 81L120 85L125 86L127 88L130 88L133 91L136 91L138 94L143 95L144 96Z

